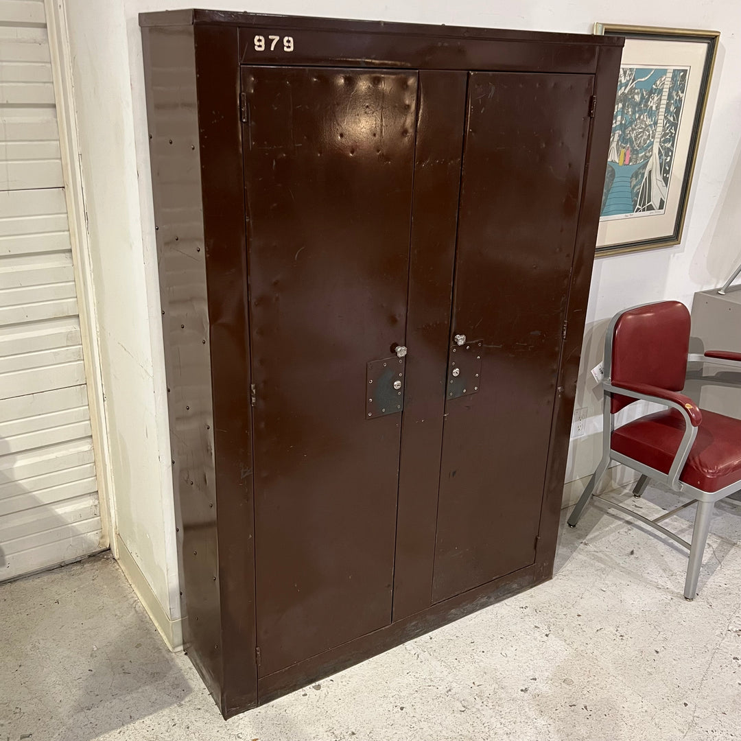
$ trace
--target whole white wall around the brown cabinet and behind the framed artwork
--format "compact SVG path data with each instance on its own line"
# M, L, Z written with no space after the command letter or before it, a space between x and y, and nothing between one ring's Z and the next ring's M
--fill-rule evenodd
M180 0L66 0L76 53L78 113L102 316L107 404L119 532L170 617L178 615L166 389L159 324L142 45L138 13L190 7ZM590 33L594 21L712 28L722 32L682 244L597 261L576 406L585 438L572 441L567 480L594 468L599 394L588 369L602 356L605 325L620 308L719 285L739 259L741 232L741 3L676 0L201 0L198 7ZM91 190L95 190L92 193ZM733 197L732 197L733 196ZM165 531L163 532L163 528Z

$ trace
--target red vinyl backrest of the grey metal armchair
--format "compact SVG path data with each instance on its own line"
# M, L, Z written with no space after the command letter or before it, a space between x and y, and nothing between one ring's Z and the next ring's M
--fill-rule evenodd
M690 343L687 307L678 301L647 304L623 311L613 322L611 381L682 391ZM619 412L635 401L615 394L611 411Z

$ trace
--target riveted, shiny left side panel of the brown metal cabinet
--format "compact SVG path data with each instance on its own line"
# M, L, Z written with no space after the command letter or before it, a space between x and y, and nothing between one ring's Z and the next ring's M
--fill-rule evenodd
M221 609L193 27L142 29L185 645L220 702Z

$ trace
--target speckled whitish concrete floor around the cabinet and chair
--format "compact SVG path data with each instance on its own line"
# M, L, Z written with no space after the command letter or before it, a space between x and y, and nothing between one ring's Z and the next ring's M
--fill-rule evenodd
M98 556L0 586L0 741L741 738L741 505L711 533L686 602L682 551L594 505L548 584L228 722Z

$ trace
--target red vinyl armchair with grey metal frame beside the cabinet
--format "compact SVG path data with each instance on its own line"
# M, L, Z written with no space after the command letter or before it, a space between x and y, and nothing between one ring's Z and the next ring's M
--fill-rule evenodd
M688 354L690 315L677 301L637 306L616 314L605 337L602 460L568 518L576 527L592 496L650 525L689 551L685 597L694 599L715 502L741 489L741 420L701 410L681 393L687 363L704 362L741 371L741 353L706 350ZM645 399L666 407L615 429L615 415ZM648 519L595 494L611 461L638 471L641 496L649 479L662 482L690 502ZM659 522L697 502L688 543Z

